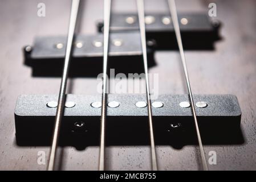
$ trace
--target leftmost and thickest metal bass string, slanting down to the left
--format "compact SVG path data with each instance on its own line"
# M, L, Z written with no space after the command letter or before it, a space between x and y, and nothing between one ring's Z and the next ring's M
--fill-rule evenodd
M76 26L76 18L78 15L79 2L80 2L80 0L72 0L70 24L68 27L66 55L65 55L65 60L64 60L62 81L61 81L60 90L59 90L58 106L57 106L56 117L55 117L54 134L53 134L52 143L51 143L50 158L49 158L48 167L47 167L48 171L54 170L56 149L58 147L60 123L62 121L62 117L64 114L64 105L66 102L68 69L69 69L70 59L71 59L72 42L74 39L74 32L75 32L75 26Z

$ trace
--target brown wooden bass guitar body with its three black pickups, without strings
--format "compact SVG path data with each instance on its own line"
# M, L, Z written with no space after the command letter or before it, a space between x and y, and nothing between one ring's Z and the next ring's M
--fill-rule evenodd
M71 2L1 2L2 170L47 169ZM119 79L119 73L127 80L144 73L147 55L148 74L155 79L149 87L157 168L205 169L200 131L210 170L255 170L256 2L176 1L199 130L168 1L144 1L145 52L137 5L124 0L111 4L104 169L154 167L145 79L139 85L120 84ZM103 10L104 1L80 1L54 169L100 166L103 95L98 75L104 68L108 25Z

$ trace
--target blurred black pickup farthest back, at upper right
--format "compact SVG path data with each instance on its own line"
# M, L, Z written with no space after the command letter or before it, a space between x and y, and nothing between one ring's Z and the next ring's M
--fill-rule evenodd
M213 49L214 42L220 39L218 31L220 22L211 21L206 14L179 14L180 30L184 49ZM145 16L148 46L155 49L178 49L177 40L169 14L151 13ZM103 23L97 23L99 32ZM111 31L139 30L137 14L111 15Z

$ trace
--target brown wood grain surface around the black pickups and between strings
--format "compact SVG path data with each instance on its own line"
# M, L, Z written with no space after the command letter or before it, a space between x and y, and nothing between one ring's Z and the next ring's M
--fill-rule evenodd
M46 4L46 17L37 16L37 5ZM185 51L193 93L235 94L242 110L241 129L245 143L234 146L205 146L217 152L217 164L211 170L256 169L256 1L177 1L178 12L208 11L210 2L217 4L217 17L223 26L213 51ZM22 47L32 44L35 36L66 35L71 1L68 0L1 0L0 1L0 169L44 170L37 163L38 151L50 147L20 147L15 143L14 107L19 94L57 94L60 78L32 77L23 65ZM103 18L103 0L82 3L80 34L96 34L96 20ZM145 10L168 12L165 1L147 0ZM112 11L136 13L135 1L113 0ZM166 40L168 41L168 40ZM170 42L171 43L171 42ZM159 51L157 65L159 92L186 93L185 80L177 51ZM142 61L142 60L141 60ZM46 70L47 71L47 70ZM93 94L96 78L69 80L69 93ZM220 126L221 127L221 126ZM228 131L227 131L228 132ZM148 146L109 146L106 149L108 170L150 170ZM59 150L58 169L97 170L99 147L78 151L74 147ZM175 149L157 146L160 170L202 169L196 146Z

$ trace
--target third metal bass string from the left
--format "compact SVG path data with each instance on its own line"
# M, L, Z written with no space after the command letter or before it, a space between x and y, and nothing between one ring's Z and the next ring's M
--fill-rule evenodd
M148 81L148 60L147 60L147 45L146 45L146 33L145 33L144 0L137 0L137 11L139 16L140 36L141 36L141 45L143 50L143 63L144 63L145 80L146 80L148 121L149 121L149 133L150 133L150 140L151 140L152 170L157 171L156 148L155 148L153 123L152 123L151 98L150 98L149 81Z

